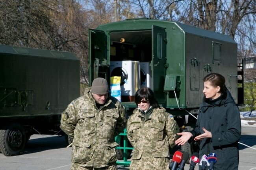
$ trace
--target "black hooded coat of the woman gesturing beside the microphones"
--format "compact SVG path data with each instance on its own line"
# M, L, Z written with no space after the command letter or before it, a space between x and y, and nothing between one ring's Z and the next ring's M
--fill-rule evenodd
M193 138L204 133L202 128L211 132L211 139L200 141L199 157L210 153L217 155L214 170L238 170L238 141L241 137L241 119L230 92L218 99L203 99L199 109Z

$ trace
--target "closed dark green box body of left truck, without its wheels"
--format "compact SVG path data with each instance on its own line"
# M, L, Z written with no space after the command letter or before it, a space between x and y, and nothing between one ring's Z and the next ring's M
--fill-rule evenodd
M0 117L60 115L80 96L80 64L73 53L0 49Z

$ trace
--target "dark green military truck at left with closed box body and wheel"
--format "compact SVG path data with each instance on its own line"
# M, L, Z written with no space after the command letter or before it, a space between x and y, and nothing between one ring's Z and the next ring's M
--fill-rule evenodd
M80 96L79 67L73 53L0 45L2 154L20 154L32 134L60 131L61 112Z

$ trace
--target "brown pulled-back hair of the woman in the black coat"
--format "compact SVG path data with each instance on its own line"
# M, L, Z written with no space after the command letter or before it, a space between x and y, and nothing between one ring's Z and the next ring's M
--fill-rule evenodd
M227 88L225 85L225 78L220 75L219 73L210 73L204 77L204 82L209 81L211 83L211 86L217 87L219 86L221 88L220 92L225 93Z

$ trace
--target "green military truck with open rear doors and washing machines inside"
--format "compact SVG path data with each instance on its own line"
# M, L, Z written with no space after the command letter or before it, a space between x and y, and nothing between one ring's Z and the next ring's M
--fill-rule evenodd
M120 76L128 114L136 108L135 91L149 87L179 126L191 130L196 122L192 115L197 116L202 102L202 79L212 72L221 73L234 100L243 103L237 44L227 35L171 21L128 19L90 29L89 45L90 84L96 77L110 81ZM188 143L182 147L192 154Z

